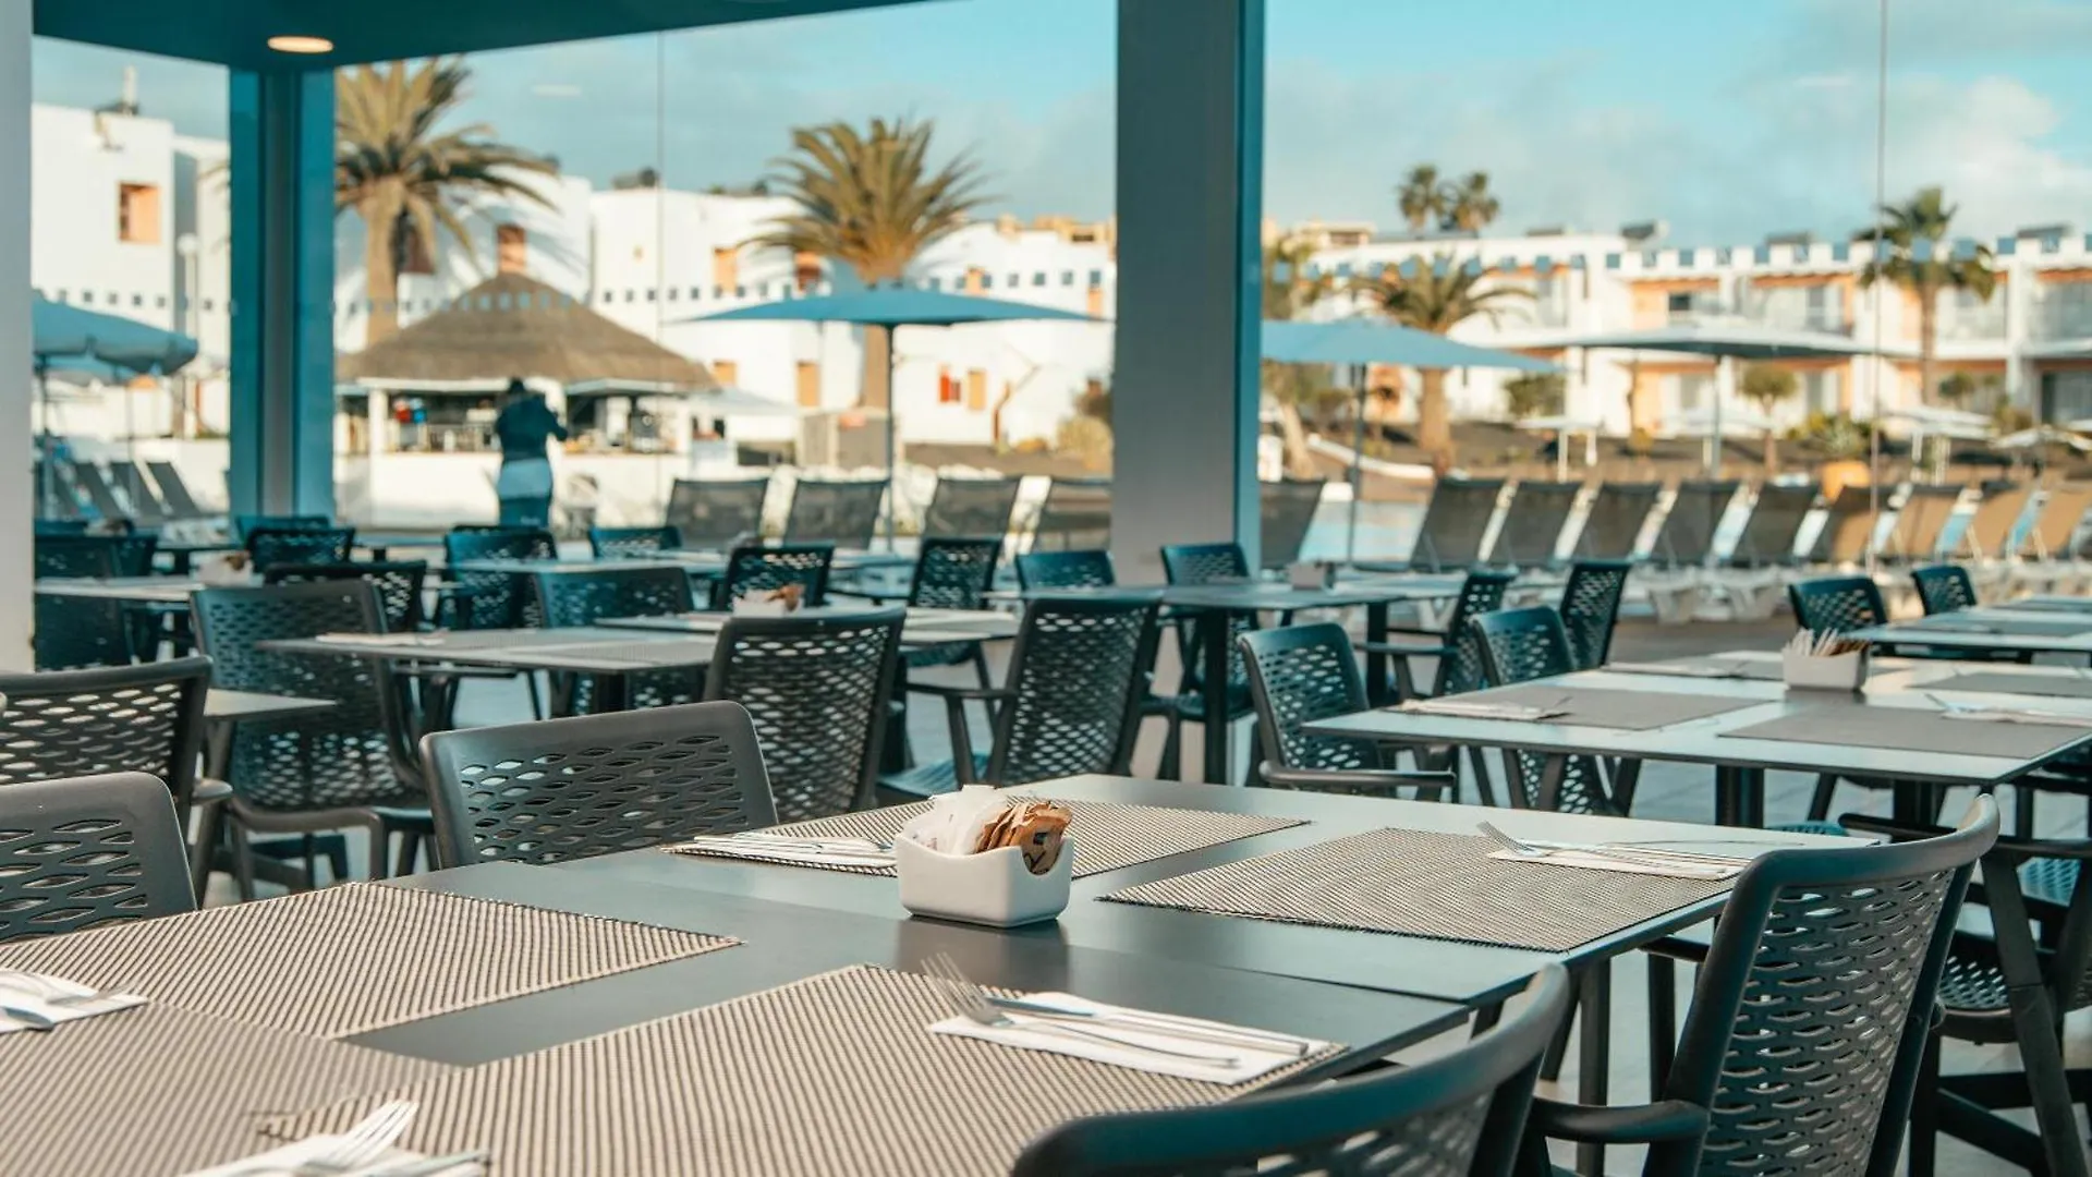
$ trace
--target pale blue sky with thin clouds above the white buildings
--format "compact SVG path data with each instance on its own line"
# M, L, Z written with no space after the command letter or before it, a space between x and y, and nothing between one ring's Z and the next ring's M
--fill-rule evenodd
M1268 0L1266 212L1395 222L1416 161L1481 168L1504 224L1663 218L1678 241L1841 235L1874 188L1874 0ZM761 174L787 128L935 117L1000 205L1102 216L1115 0L943 0L475 57L469 115L594 180ZM2092 222L2092 2L1891 0L1889 191L1977 232ZM40 42L40 101L222 134L209 67Z

